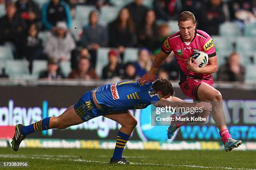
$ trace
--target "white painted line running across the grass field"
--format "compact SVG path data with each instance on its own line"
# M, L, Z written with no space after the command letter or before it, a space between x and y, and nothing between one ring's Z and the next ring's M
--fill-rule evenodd
M77 158L79 156L75 155L44 155L50 158L42 157L42 155L14 155L14 154L0 154L0 158L26 158L26 159L43 159L43 160L64 160L63 158ZM59 158L53 158L59 157ZM61 159L62 158L62 159ZM126 157L127 158L127 157ZM100 163L106 164L106 161L97 161L97 160L82 160L82 159L68 159L73 162L84 162L84 163ZM135 165L153 165L153 166L167 166L167 167L187 167L187 168L202 168L202 169L224 169L224 170L256 170L250 168L231 168L231 167L211 167L211 166L200 166L200 165L172 165L172 164L158 164L158 163L135 163Z

